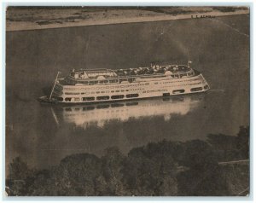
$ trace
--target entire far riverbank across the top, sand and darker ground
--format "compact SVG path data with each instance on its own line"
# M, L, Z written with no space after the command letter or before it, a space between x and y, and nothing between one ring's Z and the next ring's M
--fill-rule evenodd
M94 8L85 9L20 9L9 8L6 16L7 31L38 30L71 26L94 26L214 18L218 16L249 14L247 8L169 7L169 8Z

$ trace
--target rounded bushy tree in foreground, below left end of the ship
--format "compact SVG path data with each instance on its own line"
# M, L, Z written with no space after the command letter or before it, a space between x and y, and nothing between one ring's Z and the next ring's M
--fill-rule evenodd
M93 195L101 165L101 160L92 154L68 156L55 168L55 184L61 188L62 195Z

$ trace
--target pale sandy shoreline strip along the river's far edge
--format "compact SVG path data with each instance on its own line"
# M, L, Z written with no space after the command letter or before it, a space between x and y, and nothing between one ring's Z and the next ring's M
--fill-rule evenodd
M50 23L49 25L38 25L37 22L27 21L12 21L6 22L6 32L15 31L29 31L29 30L41 30L41 29L53 29L53 28L64 28L64 27L76 27L76 26L103 26L103 25L115 25L115 24L126 24L126 23L137 23L137 22L154 22L154 21L166 21L166 20L185 20L194 19L200 20L204 18L215 18L221 16L238 15L238 14L249 14L249 10L236 10L233 12L205 12L205 13L191 13L191 14L177 14L170 15L164 14L159 16L142 16L142 17L129 17L129 18L115 18L108 20L80 20L73 22L61 22L61 23ZM195 18L195 16L198 16ZM193 18L191 16L194 16ZM201 17L206 16L206 17Z

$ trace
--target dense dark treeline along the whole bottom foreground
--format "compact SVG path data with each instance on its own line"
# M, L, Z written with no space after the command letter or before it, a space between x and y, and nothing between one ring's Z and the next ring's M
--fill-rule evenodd
M207 138L207 142L148 143L127 155L118 148L107 148L101 158L73 154L41 171L16 158L9 165L6 191L67 196L239 194L239 189L248 187L248 165L226 167L218 162L248 159L249 128L241 127L237 136Z

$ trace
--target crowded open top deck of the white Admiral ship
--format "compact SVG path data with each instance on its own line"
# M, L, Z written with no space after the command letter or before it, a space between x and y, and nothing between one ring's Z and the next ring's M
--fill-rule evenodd
M80 69L74 70L60 80L61 84L117 84L132 83L140 79L161 78L188 78L195 76L195 71L186 65L166 65L138 67L130 69Z

